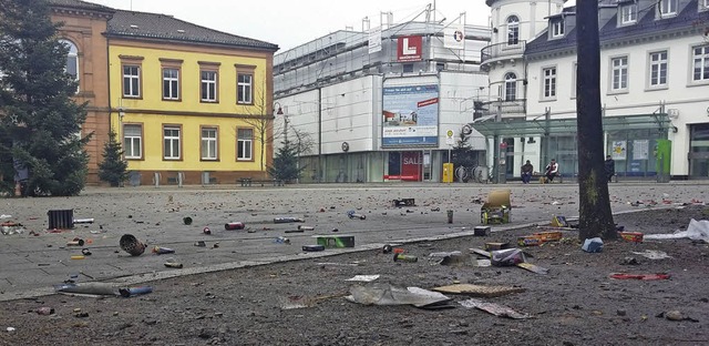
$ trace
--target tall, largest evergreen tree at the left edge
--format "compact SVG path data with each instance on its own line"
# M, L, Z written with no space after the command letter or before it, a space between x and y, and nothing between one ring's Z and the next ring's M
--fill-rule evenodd
M47 0L1 2L0 171L27 167L31 195L76 195L88 171L85 104L72 100L78 82L65 72L59 28Z

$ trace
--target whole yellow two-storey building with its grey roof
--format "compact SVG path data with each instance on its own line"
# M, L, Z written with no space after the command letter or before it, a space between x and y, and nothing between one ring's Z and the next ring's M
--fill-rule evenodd
M132 184L267 176L276 44L121 10L105 37L111 126Z

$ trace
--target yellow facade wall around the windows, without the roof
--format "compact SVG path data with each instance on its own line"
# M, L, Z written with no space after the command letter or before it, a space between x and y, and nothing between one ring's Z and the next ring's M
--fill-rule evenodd
M162 60L161 60L162 59ZM143 156L129 160L129 170L142 172L143 184L153 183L154 172L163 173L161 183L183 172L185 184L202 183L202 172L210 172L218 183L234 183L238 176L266 177L271 160L273 96L270 53L181 44L110 41L110 80L113 100L112 125L121 134L124 124L142 124ZM141 98L123 96L122 63L140 63ZM162 98L162 67L179 69L179 100ZM217 101L201 101L201 63L217 69ZM207 64L205 64L207 63ZM253 71L253 104L237 104L237 69ZM121 116L123 114L123 116ZM259 120L260 119L260 120ZM179 160L163 157L163 126L181 129ZM217 129L217 160L203 160L201 129ZM237 160L237 129L254 129L251 160ZM261 149L259 129L265 129ZM121 136L122 138L122 136ZM264 151L261 155L261 151ZM261 159L263 157L263 159Z

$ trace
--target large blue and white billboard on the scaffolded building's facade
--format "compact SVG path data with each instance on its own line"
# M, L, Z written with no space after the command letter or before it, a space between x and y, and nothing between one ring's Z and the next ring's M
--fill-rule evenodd
M383 89L382 147L439 145L439 86Z

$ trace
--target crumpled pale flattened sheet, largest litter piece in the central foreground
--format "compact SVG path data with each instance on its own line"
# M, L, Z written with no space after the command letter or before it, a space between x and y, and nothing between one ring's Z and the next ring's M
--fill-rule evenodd
M346 299L363 305L413 305L415 307L433 307L446 305L451 298L442 293L419 287L395 287L389 284L350 287Z

